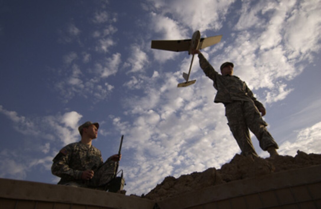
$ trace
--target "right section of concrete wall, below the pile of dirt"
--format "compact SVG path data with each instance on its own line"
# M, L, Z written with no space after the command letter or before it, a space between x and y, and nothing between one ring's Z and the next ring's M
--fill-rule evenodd
M321 166L233 181L157 204L161 209L321 208Z

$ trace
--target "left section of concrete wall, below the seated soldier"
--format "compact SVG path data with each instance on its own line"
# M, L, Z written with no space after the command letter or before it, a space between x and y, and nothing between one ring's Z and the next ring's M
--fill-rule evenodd
M155 202L100 190L0 179L0 208L4 209L151 209Z

